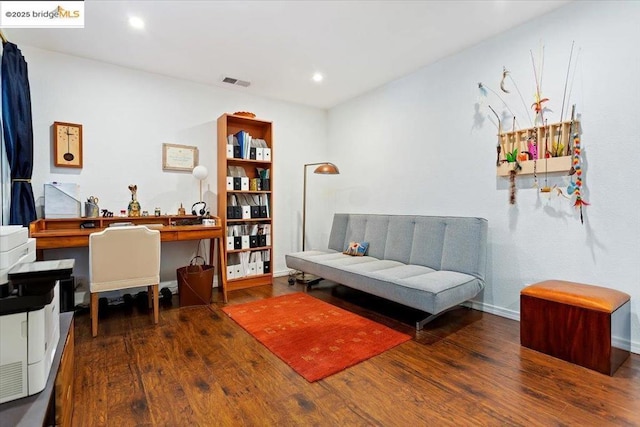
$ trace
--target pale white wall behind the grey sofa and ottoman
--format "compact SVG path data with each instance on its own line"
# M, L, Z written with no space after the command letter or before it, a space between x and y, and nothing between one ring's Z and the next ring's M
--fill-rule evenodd
M487 218L487 286L478 298L485 310L518 318L520 290L546 279L615 288L631 295L632 348L640 352L639 21L640 2L575 2L331 109L329 157L342 173L319 184L330 201L324 216ZM546 117L559 121L573 40L570 103L581 114L584 199L591 203L584 225L568 200L545 198L531 178L518 178L517 204L509 205L508 181L496 177L497 128L486 104L510 114L493 94L479 98L477 89L483 82L499 90L506 66L530 105L530 50L538 57L543 44L542 92L552 110ZM528 127L508 80L509 87L504 99ZM569 182L548 180L561 188Z

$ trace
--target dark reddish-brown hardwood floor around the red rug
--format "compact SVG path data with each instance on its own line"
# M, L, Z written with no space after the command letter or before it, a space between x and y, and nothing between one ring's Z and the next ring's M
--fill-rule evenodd
M304 291L285 278L229 304ZM640 356L608 377L520 346L519 323L460 308L422 314L331 283L310 295L414 337L308 383L222 303L76 316L76 426L640 425ZM218 294L218 300L221 296Z

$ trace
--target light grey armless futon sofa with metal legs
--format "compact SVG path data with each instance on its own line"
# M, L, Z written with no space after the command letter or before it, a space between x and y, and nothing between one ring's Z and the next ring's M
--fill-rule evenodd
M368 242L365 256L344 255ZM487 220L335 214L329 248L286 255L287 267L437 315L484 288Z

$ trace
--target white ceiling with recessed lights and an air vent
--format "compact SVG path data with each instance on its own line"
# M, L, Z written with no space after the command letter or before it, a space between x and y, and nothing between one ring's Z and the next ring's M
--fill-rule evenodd
M86 0L84 29L4 33L18 46L331 108L567 2Z

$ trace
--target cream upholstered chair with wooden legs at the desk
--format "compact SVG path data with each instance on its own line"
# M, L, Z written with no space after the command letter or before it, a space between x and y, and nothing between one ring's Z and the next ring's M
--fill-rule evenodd
M98 335L98 293L147 286L158 323L160 232L144 226L111 227L89 235L91 333Z

